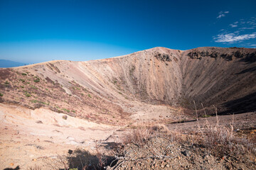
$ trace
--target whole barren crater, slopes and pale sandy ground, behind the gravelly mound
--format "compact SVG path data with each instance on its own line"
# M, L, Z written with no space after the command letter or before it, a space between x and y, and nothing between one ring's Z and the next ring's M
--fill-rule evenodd
M0 169L50 164L77 147L95 151L98 140L120 142L142 122L193 130L193 101L199 117L208 117L201 103L208 115L214 105L218 114L245 113L235 117L236 128L254 130L256 49L155 47L104 60L0 69ZM171 124L185 120L190 123Z

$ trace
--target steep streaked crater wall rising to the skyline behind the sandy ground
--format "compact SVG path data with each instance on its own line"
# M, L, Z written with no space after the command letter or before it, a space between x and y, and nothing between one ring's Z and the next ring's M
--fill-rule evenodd
M104 60L0 69L0 81L1 102L97 123L123 125L144 104L150 106L144 114L156 105L193 110L193 101L243 113L256 111L256 49L154 47Z

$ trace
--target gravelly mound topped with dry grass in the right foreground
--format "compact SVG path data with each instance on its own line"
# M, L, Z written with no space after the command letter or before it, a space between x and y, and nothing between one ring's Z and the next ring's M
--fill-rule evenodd
M198 128L190 133L170 131L165 125L133 127L123 137L124 145L117 148L114 160L117 164L112 169L122 169L122 166L128 169L164 169L164 164L176 167L173 169L186 166L189 169L254 167L252 148L255 143L236 135L233 122L219 125L216 115L216 123L209 123L207 119L205 123L195 123Z

